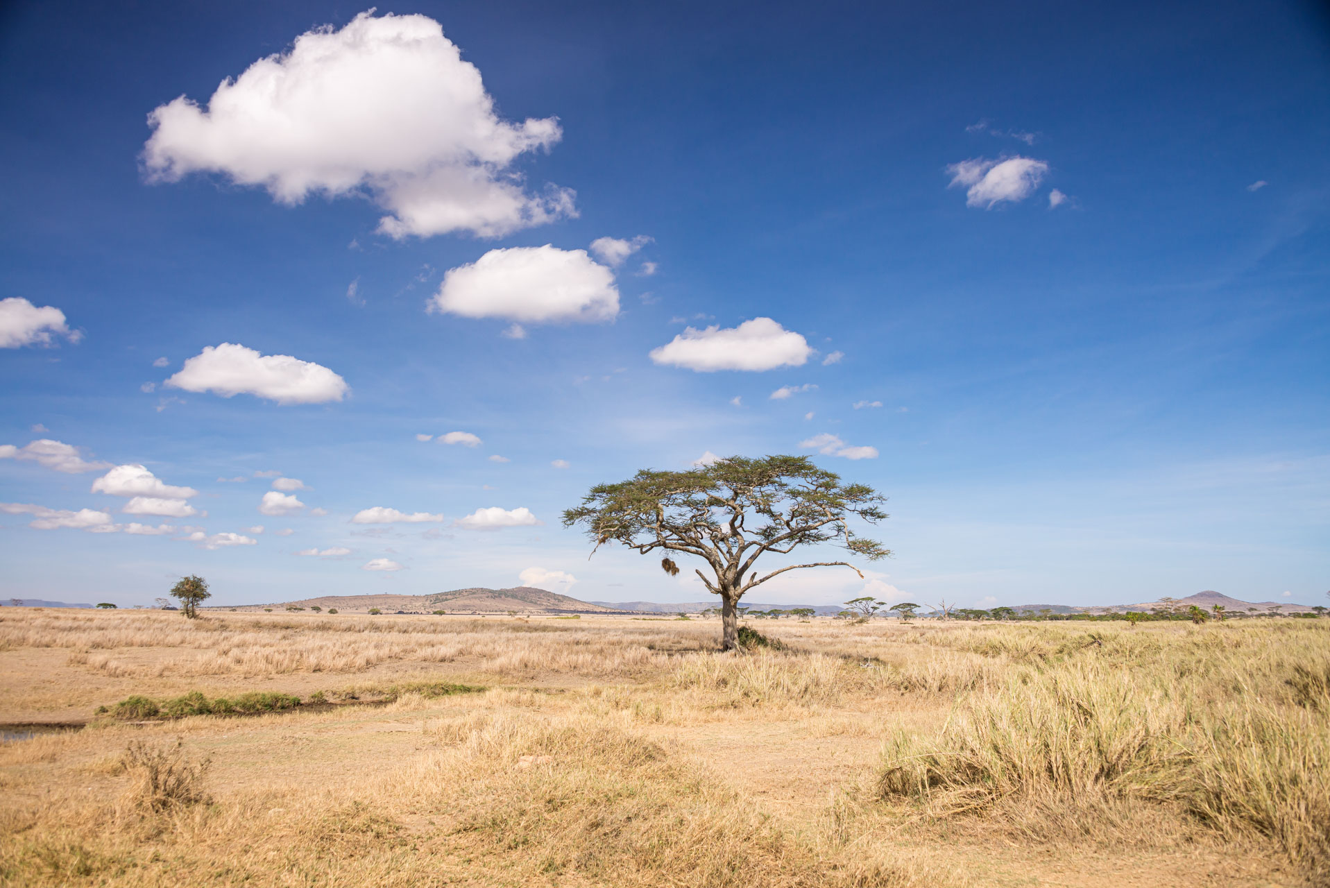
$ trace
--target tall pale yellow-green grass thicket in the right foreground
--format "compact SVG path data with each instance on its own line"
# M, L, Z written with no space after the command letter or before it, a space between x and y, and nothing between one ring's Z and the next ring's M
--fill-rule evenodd
M892 735L880 794L934 816L1166 803L1330 876L1327 635L1244 627L1020 667L936 736Z

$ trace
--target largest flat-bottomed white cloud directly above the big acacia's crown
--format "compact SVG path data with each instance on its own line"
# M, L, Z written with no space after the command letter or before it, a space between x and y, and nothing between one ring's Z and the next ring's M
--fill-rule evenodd
M652 350L657 364L702 374L717 370L775 370L799 367L813 354L809 342L770 318L753 318L738 327L688 327L673 342Z

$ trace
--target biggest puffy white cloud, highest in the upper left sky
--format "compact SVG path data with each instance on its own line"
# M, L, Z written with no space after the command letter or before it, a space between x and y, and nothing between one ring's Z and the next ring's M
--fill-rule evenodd
M395 238L497 237L576 215L572 191L531 194L512 170L560 140L559 122L500 120L476 66L420 15L364 12L303 33L289 53L223 80L206 110L181 96L149 125L152 179L223 173L283 203L368 193Z

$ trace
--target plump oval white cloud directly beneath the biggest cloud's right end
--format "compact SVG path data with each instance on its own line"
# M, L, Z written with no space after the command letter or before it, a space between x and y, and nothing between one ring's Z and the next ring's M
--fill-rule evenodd
M448 270L430 311L527 323L612 320L614 274L585 250L508 247Z

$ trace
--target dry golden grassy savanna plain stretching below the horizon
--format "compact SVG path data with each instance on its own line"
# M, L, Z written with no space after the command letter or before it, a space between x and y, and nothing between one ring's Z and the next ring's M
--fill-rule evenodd
M0 881L1330 884L1330 619L753 627L7 608Z

